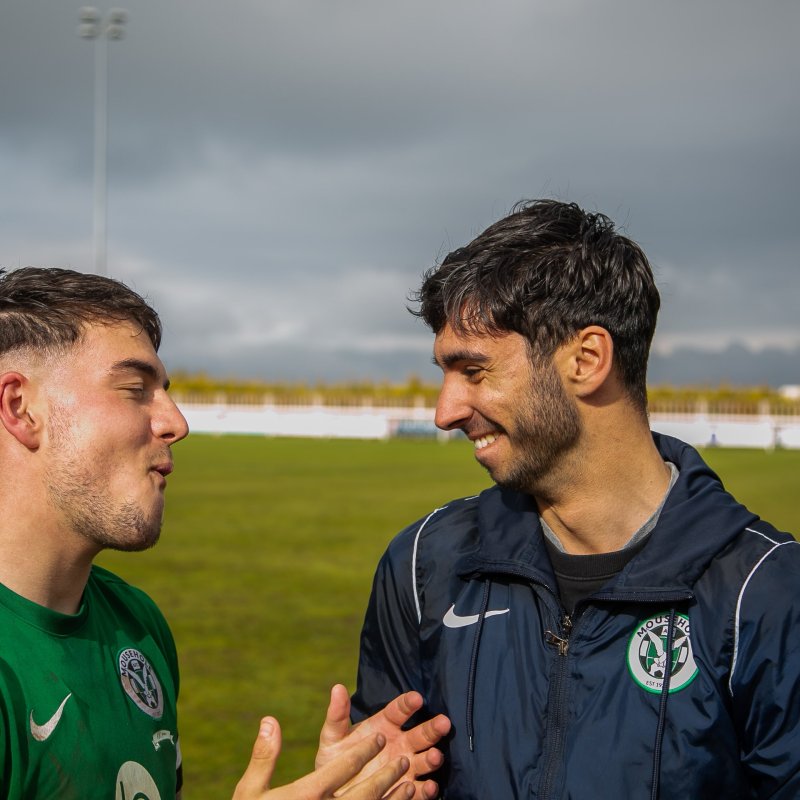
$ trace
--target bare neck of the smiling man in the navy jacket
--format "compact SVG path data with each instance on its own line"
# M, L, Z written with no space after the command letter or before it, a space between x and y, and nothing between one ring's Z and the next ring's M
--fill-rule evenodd
M627 417L611 430L585 430L559 475L533 494L565 551L591 555L624 547L658 508L669 480L646 421Z

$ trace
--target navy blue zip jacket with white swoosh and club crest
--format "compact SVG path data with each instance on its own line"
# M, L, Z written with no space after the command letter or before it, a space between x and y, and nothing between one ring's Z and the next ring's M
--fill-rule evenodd
M572 618L526 495L456 500L390 544L353 719L410 689L447 714L444 797L800 798L800 547L655 438L678 481Z

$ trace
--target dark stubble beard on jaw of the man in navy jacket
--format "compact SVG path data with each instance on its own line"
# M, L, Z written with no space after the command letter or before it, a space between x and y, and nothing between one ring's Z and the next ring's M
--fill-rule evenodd
M536 495L552 480L583 432L580 414L550 363L535 365L531 390L505 431L513 460L495 469L499 486Z

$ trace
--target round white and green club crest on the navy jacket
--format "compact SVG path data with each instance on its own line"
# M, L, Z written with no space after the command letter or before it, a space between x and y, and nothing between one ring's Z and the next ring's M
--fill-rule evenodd
M658 694L664 686L669 664L669 692L685 689L697 677L697 664L692 655L689 617L675 615L672 652L667 654L669 614L656 614L643 620L628 643L628 670L645 691Z

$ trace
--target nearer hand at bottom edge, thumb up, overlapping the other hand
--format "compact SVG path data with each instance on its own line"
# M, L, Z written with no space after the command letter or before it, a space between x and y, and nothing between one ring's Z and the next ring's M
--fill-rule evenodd
M409 762L405 757L389 760L369 777L353 783L352 779L374 760L385 744L386 738L382 734L368 736L342 750L309 775L286 786L270 789L269 783L281 751L281 729L276 719L264 717L250 763L236 785L233 800L332 800L339 797L346 800L411 800L415 794L414 785L409 782L397 784L408 771ZM342 790L346 784L350 784L349 787ZM386 794L393 786L395 788Z

